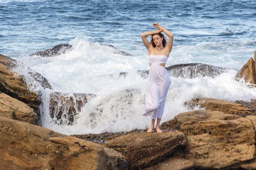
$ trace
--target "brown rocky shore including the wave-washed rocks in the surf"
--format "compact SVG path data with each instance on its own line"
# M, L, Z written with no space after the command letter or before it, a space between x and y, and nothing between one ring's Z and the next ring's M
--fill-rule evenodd
M57 54L62 47L67 50L71 46L55 46L54 52L45 52ZM256 51L254 60L249 59L234 79L256 90L255 60ZM162 123L161 134L133 130L67 136L38 126L40 94L29 90L24 77L13 71L16 63L0 55L1 169L256 169L256 96L249 102L191 99L184 105L194 111ZM183 68L189 66L193 64ZM201 71L212 69L197 66ZM168 70L182 75L177 67ZM219 67L215 70L212 76L225 71ZM40 74L32 75L45 88L51 88ZM202 76L208 75L202 71ZM72 125L81 107L93 97L74 96L52 94L50 116L57 115L55 123L61 124L58 117L66 116ZM67 102L68 109L63 108Z

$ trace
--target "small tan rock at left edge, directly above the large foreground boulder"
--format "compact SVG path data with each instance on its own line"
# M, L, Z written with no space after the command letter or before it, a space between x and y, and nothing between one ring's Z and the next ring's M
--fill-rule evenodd
M37 115L32 108L5 93L0 94L0 116L30 124L35 124L37 118Z

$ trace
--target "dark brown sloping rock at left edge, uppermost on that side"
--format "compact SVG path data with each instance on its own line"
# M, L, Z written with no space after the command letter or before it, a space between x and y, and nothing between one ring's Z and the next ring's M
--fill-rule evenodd
M15 60L0 55L0 91L26 103L29 107L35 109L35 112L39 113L38 106L41 103L39 96L28 89L22 76L9 70L15 64Z

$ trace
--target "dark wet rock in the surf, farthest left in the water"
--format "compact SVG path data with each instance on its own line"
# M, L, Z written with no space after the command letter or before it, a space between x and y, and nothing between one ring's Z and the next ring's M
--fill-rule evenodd
M72 48L72 45L70 45L70 44L58 44L50 49L33 53L30 56L37 55L37 56L42 56L42 57L51 57L51 56L63 54L67 50L70 50L70 48Z

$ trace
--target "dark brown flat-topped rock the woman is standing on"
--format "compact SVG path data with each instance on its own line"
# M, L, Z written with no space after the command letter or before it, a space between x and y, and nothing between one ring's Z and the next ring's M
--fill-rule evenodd
M129 168L136 169L165 159L186 142L184 134L176 130L161 134L134 132L110 140L108 147L126 155Z

